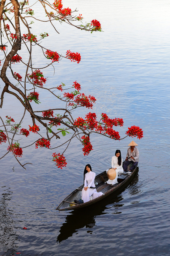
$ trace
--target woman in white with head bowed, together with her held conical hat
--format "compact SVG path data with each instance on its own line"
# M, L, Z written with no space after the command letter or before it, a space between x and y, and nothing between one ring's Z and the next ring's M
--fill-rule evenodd
M121 151L116 150L115 156L112 157L112 168L109 170L106 170L107 176L108 176L108 181L106 183L114 185L117 182L117 176L118 173L123 173L123 168L122 168L122 162L123 159L121 158Z

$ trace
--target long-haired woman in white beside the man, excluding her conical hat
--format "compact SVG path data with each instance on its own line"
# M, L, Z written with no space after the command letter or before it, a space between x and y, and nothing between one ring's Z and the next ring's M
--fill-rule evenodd
M108 179L106 183L111 185L118 183L117 182L118 173L120 174L123 173L122 162L123 162L123 159L121 158L121 151L117 149L115 152L115 156L112 157L112 169L115 170L116 177L113 180ZM108 173L108 170L106 170L106 173Z

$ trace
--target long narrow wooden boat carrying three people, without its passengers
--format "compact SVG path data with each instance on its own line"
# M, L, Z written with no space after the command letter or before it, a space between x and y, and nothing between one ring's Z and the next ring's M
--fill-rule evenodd
M74 200L79 200L81 198L82 189L83 189L83 185L81 185L80 187L76 188L70 195L68 195L58 205L56 210L66 211L66 210L74 210L74 209L87 207L91 204L95 204L100 200L103 200L106 196L110 195L111 193L114 193L115 191L123 190L123 188L130 183L130 181L134 178L135 174L137 173L137 170L138 170L137 166L138 164L135 166L131 174L128 174L128 171L123 172L122 174L119 174L117 178L118 183L114 185L105 183L108 180L106 171L98 174L95 178L95 183L98 183L98 185L96 185L96 190L97 192L104 193L104 195L99 196L83 204L76 204L76 203L73 204Z

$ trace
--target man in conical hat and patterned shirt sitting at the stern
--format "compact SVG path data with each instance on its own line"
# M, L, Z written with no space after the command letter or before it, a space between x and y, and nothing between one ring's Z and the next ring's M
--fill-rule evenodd
M132 171L136 164L139 162L139 150L137 149L136 144L134 141L131 141L130 146L127 151L125 162L123 163L123 170L126 171L129 164L132 164L130 167L130 171Z

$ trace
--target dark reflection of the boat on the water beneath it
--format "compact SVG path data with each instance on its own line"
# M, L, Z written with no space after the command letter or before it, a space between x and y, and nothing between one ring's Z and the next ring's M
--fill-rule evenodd
M125 191L127 187L130 188L131 195L137 194L137 191L140 193L140 188L137 185L138 177L139 175L137 170L134 179L121 191L115 191L114 194L109 195L108 197L104 198L103 200L97 202L94 205L69 212L66 217L66 221L62 224L62 227L60 228L60 234L57 236L57 243L61 243L63 240L66 240L75 232L78 232L80 228L93 228L96 223L96 216L108 214L104 212L106 209L117 207L117 203L123 200L121 193ZM118 204L119 207L123 205L124 204ZM120 213L121 212L115 212L114 214Z

